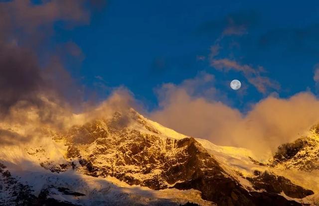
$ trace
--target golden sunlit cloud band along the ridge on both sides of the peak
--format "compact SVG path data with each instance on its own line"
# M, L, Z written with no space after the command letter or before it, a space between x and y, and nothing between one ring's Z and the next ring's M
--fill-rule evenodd
M217 89L207 88L214 92L201 90L201 94L196 92L198 85L213 80L213 76L202 73L180 85L163 85L158 90L160 108L152 112L143 112L134 95L125 88L114 90L107 100L78 114L45 97L42 97L45 106L41 107L21 107L18 102L0 124L2 129L9 126L18 133L5 133L1 142L4 145L24 144L44 138L43 128L63 130L74 124L106 118L115 111L126 112L130 107L138 107L150 119L177 132L218 145L248 148L258 155L274 152L280 144L296 139L319 121L319 101L311 93L299 93L289 99L269 96L254 104L244 115L238 109L212 99L219 97Z

